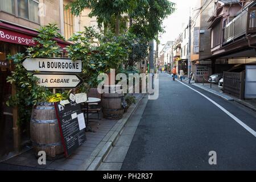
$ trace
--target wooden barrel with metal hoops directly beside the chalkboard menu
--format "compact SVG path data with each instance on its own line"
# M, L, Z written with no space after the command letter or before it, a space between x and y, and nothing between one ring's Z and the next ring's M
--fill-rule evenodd
M64 157L59 124L53 103L44 102L34 107L30 121L30 135L36 156L38 156L39 151L45 151L47 160Z

